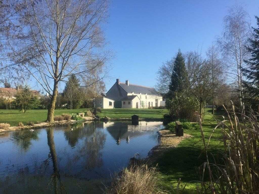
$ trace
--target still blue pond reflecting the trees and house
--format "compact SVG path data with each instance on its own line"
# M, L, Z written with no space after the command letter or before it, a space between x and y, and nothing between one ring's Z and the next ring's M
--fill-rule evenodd
M73 131L71 131L73 127ZM162 122L86 122L0 133L0 193L102 193Z

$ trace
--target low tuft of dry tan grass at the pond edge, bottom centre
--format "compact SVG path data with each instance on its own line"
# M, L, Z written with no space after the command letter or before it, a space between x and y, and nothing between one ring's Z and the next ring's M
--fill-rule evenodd
M155 167L147 165L130 166L124 168L121 173L112 180L111 187L107 189L109 194L161 194L159 189L159 173Z

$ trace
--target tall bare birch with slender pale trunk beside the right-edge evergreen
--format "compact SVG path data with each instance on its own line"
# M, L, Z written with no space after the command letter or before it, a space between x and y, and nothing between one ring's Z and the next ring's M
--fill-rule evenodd
M243 102L243 60L247 58L248 38L250 36L250 18L241 5L235 5L228 9L224 18L224 30L221 38L218 39L225 65L226 73L237 81L240 107L244 111Z

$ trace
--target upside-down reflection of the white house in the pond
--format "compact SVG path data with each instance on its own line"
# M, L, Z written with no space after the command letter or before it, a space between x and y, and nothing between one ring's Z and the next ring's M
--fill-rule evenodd
M143 135L149 130L153 130L161 122L146 122L146 121L127 121L127 122L103 122L103 128L106 128L112 138L120 145L121 141L130 143L130 138Z

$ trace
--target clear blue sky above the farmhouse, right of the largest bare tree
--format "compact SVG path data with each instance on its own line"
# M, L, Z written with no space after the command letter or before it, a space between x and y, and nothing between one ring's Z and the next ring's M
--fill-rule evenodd
M235 3L245 6L254 26L258 0L112 1L105 36L115 58L110 62L112 79L105 80L106 90L116 78L154 86L159 66L178 48L186 52L199 47L205 52L221 34L227 6Z

